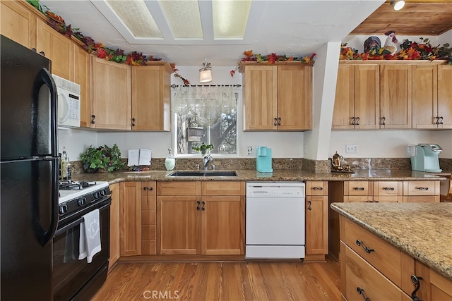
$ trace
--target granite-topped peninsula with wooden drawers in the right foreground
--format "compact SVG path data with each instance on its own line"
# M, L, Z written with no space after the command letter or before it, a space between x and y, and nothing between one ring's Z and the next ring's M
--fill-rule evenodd
M333 203L340 214L341 293L452 298L452 204ZM416 283L420 289L415 292Z

